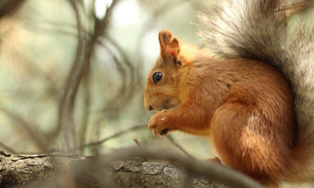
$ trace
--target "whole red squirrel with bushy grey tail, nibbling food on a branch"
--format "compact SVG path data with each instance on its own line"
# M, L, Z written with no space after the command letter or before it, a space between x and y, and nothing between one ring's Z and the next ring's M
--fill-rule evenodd
M207 49L160 31L148 128L209 137L224 164L269 187L313 182L314 29L289 21L313 1L209 2L198 13Z

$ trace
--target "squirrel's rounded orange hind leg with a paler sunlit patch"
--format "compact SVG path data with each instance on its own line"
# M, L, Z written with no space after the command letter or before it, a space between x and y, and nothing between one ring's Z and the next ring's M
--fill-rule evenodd
M256 107L225 103L210 121L211 139L226 165L270 187L278 186L284 168L281 135L272 132Z

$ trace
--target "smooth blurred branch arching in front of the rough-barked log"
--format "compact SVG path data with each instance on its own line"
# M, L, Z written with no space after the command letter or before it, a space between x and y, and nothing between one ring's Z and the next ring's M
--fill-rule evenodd
M98 159L101 160L101 163L108 164L130 157L145 157L177 163L182 165L190 174L210 177L232 187L263 187L257 181L232 168L214 162L196 160L165 147L128 147L115 150L111 154L104 155Z

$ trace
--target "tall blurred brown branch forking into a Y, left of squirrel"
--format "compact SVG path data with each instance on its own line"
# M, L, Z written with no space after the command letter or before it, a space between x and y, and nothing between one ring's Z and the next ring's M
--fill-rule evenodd
M76 148L76 136L75 136L75 127L73 122L73 107L74 107L74 101L77 94L77 90L80 86L82 78L86 75L86 72L89 70L90 66L90 60L95 48L95 44L98 40L98 37L104 33L104 29L109 24L109 17L112 13L112 9L117 4L118 0L113 0L111 6L107 8L107 13L105 17L101 20L97 19L95 17L95 28L94 32L91 35L90 39L85 45L86 52L84 53L84 56L80 56L81 50L82 50L82 34L81 31L83 30L81 20L80 20L80 14L78 7L76 5L75 0L69 0L77 18L77 26L78 26L78 50L75 62L73 63L72 69L69 73L66 89L64 91L61 103L60 103L60 115L59 115L59 128L65 126L66 128L66 141L67 141L67 147L68 149L71 149L70 141L71 138L74 141L74 148ZM78 63L77 61L82 63ZM57 129L57 130L58 130ZM72 134L72 135L71 135Z

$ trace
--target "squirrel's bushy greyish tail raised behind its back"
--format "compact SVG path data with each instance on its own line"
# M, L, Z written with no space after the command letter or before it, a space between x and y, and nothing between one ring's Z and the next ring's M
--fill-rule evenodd
M293 16L314 0L217 0L200 12L199 33L216 55L277 67L294 93L298 136L286 178L314 180L314 27Z

